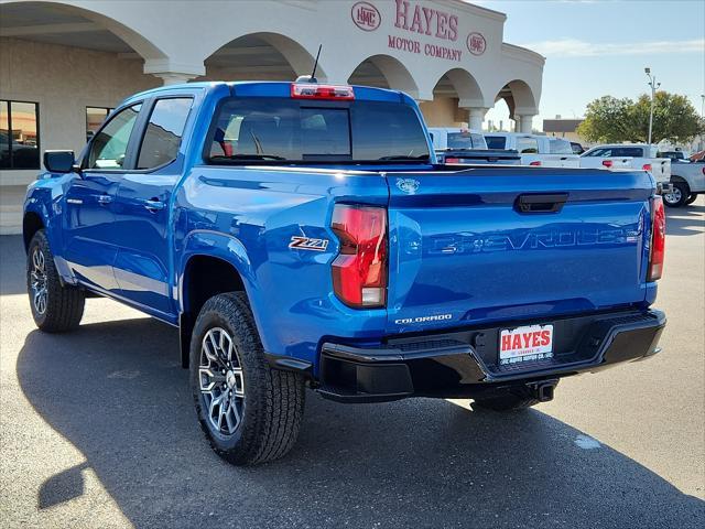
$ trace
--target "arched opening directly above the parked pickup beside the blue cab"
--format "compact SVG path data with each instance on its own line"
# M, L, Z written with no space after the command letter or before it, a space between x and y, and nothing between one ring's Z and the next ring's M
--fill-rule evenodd
M431 127L467 127L470 108L482 107L482 93L469 72L453 68L433 88L433 100L422 101L421 111Z

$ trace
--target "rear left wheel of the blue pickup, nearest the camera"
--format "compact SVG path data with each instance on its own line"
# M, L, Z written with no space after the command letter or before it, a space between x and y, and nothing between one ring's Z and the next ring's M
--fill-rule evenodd
M227 346L208 348L205 341L209 332L226 332L235 352L236 361L220 364L209 359L206 349L219 359L227 355ZM223 333L219 334L220 336ZM208 338L210 339L210 338ZM209 342L210 343L210 342ZM224 374L203 375L200 368L217 370L212 361L224 367ZM191 384L200 428L213 450L235 465L252 465L285 455L296 442L304 411L304 378L300 374L271 368L262 349L252 312L243 292L230 292L210 298L198 314L191 341ZM228 367L229 366L229 367ZM226 371L226 369L228 369ZM238 371L238 376L232 376ZM221 377L217 380L217 377ZM230 381L234 385L230 386ZM213 381L213 391L202 391ZM228 389L229 388L229 389ZM237 397L238 389L241 397ZM218 424L212 419L215 408L210 402L228 392L218 406ZM230 421L219 429L220 415L235 410L235 428ZM224 411L225 410L225 411ZM231 432L227 430L232 430ZM225 432L223 430L226 430Z

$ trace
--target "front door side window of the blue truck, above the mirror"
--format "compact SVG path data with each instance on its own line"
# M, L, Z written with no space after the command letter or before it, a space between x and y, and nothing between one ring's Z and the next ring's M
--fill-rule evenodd
M120 110L90 143L88 169L121 169L142 104Z

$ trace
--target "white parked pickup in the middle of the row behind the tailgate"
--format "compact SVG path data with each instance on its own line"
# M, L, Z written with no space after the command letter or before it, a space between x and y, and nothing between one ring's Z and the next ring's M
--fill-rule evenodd
M490 149L512 149L519 152L522 165L544 168L578 168L579 156L573 154L571 142L549 136L519 132L488 132L485 141Z

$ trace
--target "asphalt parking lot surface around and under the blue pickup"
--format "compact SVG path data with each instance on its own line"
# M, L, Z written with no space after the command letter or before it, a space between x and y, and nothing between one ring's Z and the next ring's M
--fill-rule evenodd
M310 392L293 452L246 469L205 442L175 330L89 300L78 332L37 332L1 237L2 526L703 527L704 197L668 222L653 359L509 415Z

